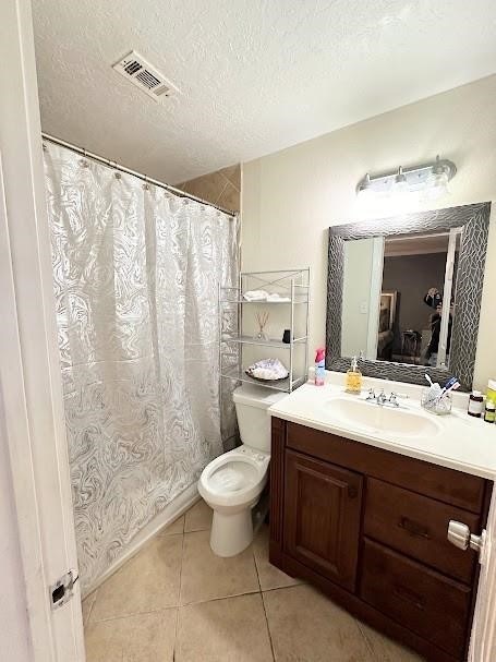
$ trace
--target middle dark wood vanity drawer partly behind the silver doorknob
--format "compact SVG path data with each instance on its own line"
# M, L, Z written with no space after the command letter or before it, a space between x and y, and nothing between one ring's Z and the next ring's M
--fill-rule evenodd
M480 517L389 483L367 479L364 533L467 583L476 564L473 550L457 549L446 537L457 519L479 533Z

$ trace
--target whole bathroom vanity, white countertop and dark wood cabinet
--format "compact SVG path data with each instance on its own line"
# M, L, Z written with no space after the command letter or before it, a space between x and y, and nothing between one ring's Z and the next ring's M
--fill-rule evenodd
M496 430L462 412L437 421L413 398L384 430L346 425L346 401L307 384L270 409L270 563L427 660L463 660L479 563L447 528L484 528ZM374 420L376 405L354 402Z

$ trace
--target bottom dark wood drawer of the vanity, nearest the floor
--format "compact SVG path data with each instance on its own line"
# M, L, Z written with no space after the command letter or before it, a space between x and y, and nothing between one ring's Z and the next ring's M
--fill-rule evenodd
M365 539L361 598L462 660L471 589Z

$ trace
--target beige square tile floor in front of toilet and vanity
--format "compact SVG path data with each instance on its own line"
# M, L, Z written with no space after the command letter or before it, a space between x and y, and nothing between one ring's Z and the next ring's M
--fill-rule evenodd
M87 662L420 662L268 562L268 531L232 558L203 502L83 602Z

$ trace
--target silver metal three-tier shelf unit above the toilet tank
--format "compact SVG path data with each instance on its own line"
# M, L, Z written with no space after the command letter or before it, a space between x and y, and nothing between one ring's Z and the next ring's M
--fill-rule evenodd
M246 292L254 289L277 294L281 300L245 299ZM309 372L309 303L310 268L241 272L238 287L220 287L220 377L282 393L291 393L304 384ZM254 330L250 330L256 306L277 311L276 322L274 324L273 321L271 325L271 335L276 337L257 337ZM289 330L288 342L282 340L285 330ZM245 372L246 354L251 362L279 358L288 369L288 377L265 382L250 376Z

